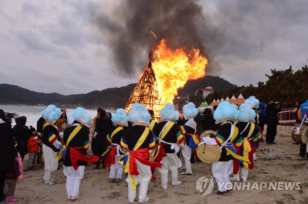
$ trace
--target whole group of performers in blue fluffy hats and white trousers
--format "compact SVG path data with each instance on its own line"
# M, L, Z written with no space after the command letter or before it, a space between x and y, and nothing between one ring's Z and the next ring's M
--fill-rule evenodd
M55 121L61 111L54 105L49 105L42 112L43 118L47 121L43 129L45 175L43 182L47 185L54 185L55 180L51 179L51 172L57 170L58 160L62 159L63 173L67 177L66 194L67 200L79 199L79 187L84 176L84 169L87 162L105 161L109 169L109 182L119 183L122 181L123 171L126 174L128 183L128 202L133 203L136 198L136 186L139 183L139 203L149 201L147 196L148 184L157 169L161 176L161 187L168 188L168 172L171 171L171 185L177 186L178 169L182 162L178 157L181 150L184 167L182 175L193 175L190 159L192 151L198 145L217 145L221 151L220 159L213 163L212 173L216 179L218 189L216 194L227 195L232 189L225 189L222 182L240 180L246 181L248 169L253 168L253 153L258 147L261 133L255 121L259 101L251 96L245 100L239 108L227 101L221 102L214 112L216 123L220 128L215 137L204 137L199 139L196 134L197 124L194 117L198 109L193 103L183 107L185 123L182 126L176 124L179 120L179 112L173 104L166 104L160 110L158 124L153 120L153 114L141 104L132 105L132 110L126 112L119 108L111 120L115 127L107 135L110 147L99 158L97 156L87 157L89 147L88 123L91 117L85 109L79 107L68 117L70 127L66 128L63 135L59 135ZM128 121L132 126L128 128ZM64 145L61 145L60 138L63 137ZM256 157L255 157L256 159ZM233 177L229 176L233 173Z

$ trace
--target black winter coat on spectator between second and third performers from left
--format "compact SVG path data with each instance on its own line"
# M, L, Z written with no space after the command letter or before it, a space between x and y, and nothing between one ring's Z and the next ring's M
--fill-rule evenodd
M94 147L103 147L107 148L109 143L107 142L107 135L109 134L111 128L113 127L113 123L108 116L104 118L96 119L96 137L93 138L92 145Z

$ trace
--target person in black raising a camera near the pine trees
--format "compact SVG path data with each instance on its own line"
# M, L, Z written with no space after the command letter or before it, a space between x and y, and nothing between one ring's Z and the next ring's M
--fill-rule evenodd
M268 100L268 105L265 107L266 111L266 123L267 123L267 130L266 130L266 144L276 144L274 142L276 136L276 129L279 123L277 113L281 111L280 103L276 101L274 103L273 99Z

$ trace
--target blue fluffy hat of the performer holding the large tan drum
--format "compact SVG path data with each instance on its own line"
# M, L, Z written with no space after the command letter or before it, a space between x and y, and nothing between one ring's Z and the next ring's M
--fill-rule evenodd
M217 106L213 115L217 124L226 120L236 121L237 114L236 105L230 104L228 101L223 101Z

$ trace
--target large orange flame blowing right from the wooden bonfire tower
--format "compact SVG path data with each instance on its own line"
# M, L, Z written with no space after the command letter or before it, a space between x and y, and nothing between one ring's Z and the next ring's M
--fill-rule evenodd
M187 80L205 76L205 66L208 60L200 55L199 49L185 53L184 49L171 50L167 48L166 40L160 41L158 49L154 50L156 58L152 68L156 75L157 88L161 103L173 103L177 89L183 88Z

